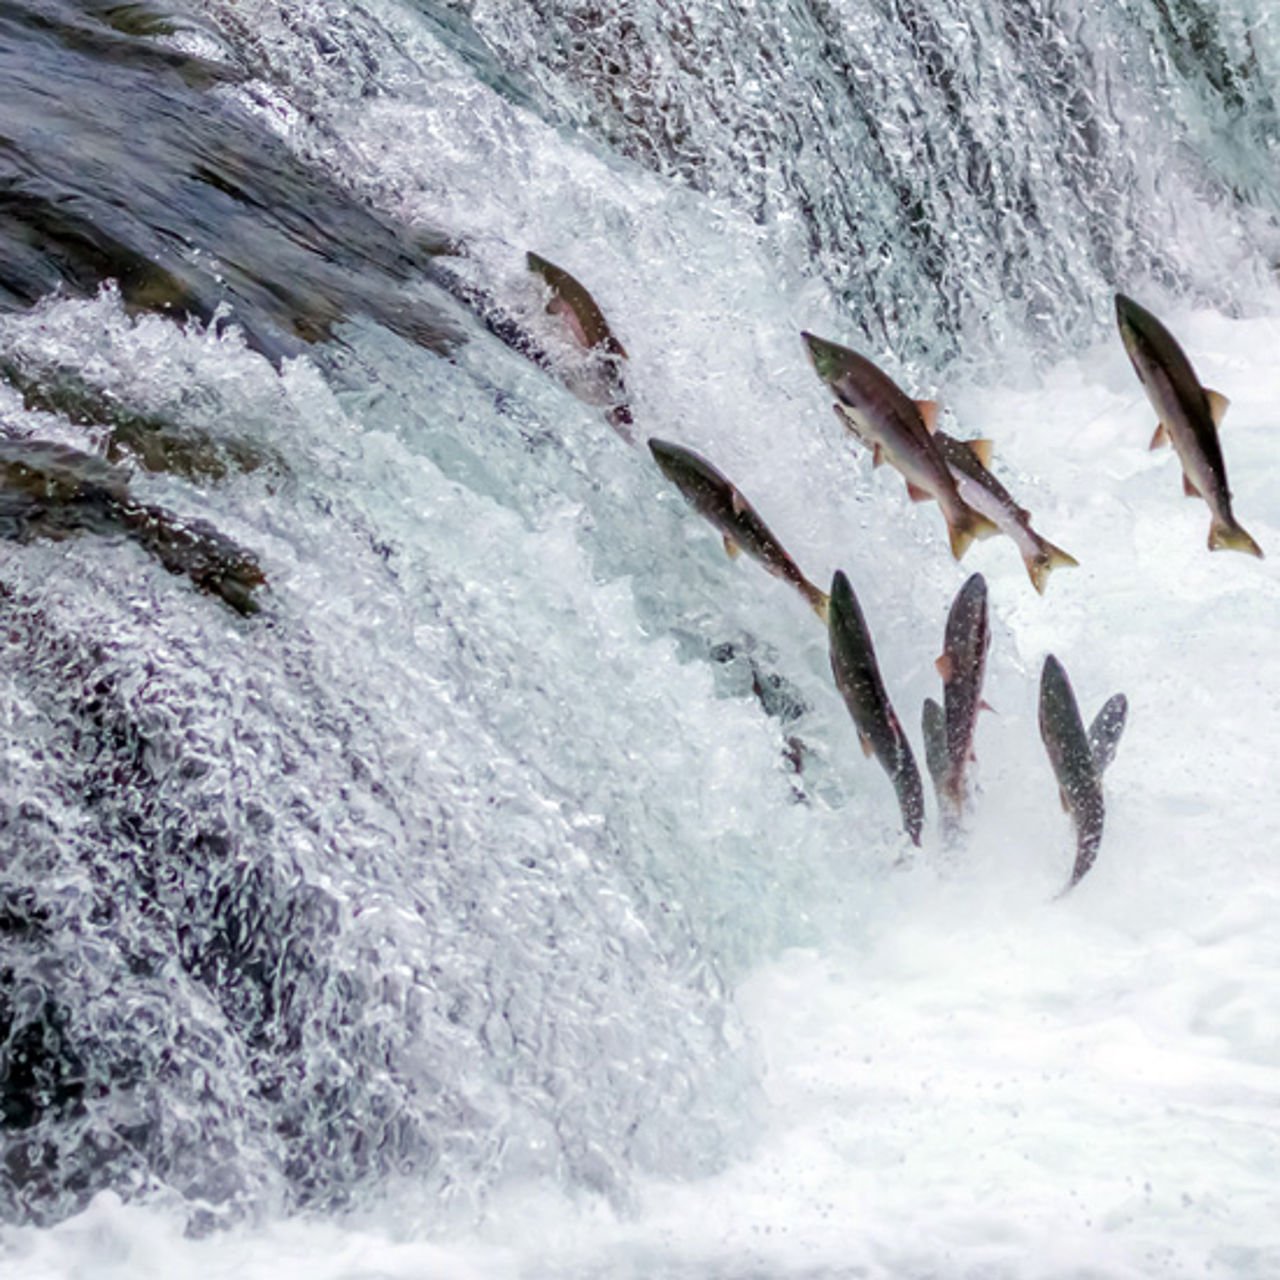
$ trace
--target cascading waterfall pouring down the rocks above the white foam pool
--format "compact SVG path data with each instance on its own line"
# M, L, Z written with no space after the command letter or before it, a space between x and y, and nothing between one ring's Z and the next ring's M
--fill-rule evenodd
M10 1257L101 1192L195 1233L394 1197L431 1236L739 1167L777 1111L742 984L879 936L911 873L823 630L643 440L854 576L914 735L961 571L799 330L977 417L1114 343L1119 287L1274 311L1266 5L19 0L0 70L4 436L123 463L268 580L242 617L125 536L0 543ZM639 448L566 389L526 250L623 340ZM1079 408L1033 412L1087 448L1115 407ZM1010 456L1065 524L1043 439ZM1130 605L1080 554L1033 612L977 554L1009 790L1038 654ZM1051 842L1033 809L983 847Z

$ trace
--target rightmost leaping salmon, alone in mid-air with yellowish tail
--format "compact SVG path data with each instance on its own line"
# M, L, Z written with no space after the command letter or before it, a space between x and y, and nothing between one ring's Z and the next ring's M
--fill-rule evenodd
M1261 558L1262 548L1231 512L1226 462L1217 436L1226 397L1201 385L1174 335L1123 293L1116 294L1116 323L1138 381L1158 417L1151 447L1171 443L1183 465L1183 490L1208 503L1210 550L1228 548Z

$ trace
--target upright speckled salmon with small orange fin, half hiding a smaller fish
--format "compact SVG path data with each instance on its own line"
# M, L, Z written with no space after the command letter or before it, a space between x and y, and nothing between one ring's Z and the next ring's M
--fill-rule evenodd
M959 824L968 801L965 772L974 759L973 739L978 727L982 682L987 673L991 627L987 620L987 581L974 573L956 593L947 614L942 657L936 666L942 677L945 763L933 773L938 808L948 833Z

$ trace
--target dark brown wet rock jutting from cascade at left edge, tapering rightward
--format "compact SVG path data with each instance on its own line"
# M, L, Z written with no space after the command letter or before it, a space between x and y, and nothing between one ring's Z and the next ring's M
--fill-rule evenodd
M81 532L128 538L239 613L259 609L253 591L266 581L262 570L216 529L136 502L127 474L92 454L0 439L0 538L59 541Z

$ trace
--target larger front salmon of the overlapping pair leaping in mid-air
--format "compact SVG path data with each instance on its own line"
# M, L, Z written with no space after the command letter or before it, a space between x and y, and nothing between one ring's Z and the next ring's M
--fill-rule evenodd
M956 489L929 434L937 412L932 401L913 401L887 374L864 356L812 333L800 335L818 376L836 393L841 420L872 451L872 465L888 460L906 480L914 502L936 498L951 538L951 554L964 556L974 538L997 532Z

